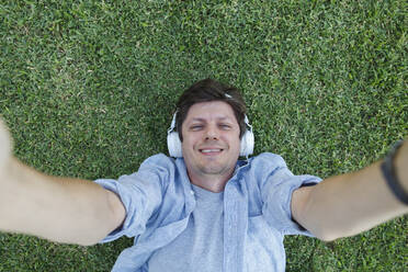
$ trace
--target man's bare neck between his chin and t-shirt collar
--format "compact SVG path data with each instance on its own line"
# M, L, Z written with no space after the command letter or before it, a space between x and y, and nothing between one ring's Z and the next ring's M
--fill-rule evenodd
M188 170L191 183L213 193L223 192L228 180L233 177L234 169L226 174L195 174Z

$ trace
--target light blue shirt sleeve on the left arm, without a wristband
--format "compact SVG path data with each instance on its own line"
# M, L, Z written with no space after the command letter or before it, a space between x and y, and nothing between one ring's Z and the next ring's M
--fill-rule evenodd
M100 241L101 243L113 241L122 236L135 237L143 234L147 222L158 211L162 201L167 171L166 168L160 167L160 163L156 165L148 160L133 174L122 175L117 180L94 181L116 193L126 209L123 225Z

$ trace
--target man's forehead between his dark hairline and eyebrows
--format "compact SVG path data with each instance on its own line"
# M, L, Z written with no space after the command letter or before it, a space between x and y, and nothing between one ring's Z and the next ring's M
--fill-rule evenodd
M223 101L200 102L193 104L188 112L185 122L194 120L230 120L236 121L233 107Z

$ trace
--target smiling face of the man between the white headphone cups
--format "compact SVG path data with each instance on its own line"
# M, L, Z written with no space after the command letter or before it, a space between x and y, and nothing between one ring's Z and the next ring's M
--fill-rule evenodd
M181 132L190 179L196 175L229 178L240 149L239 125L229 104L213 101L192 105Z

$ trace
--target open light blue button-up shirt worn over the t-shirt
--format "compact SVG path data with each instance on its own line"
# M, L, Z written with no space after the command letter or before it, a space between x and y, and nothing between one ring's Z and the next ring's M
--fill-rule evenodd
M310 236L292 220L292 192L319 181L294 175L277 155L239 160L224 190L224 260L218 271L284 271L284 235ZM134 246L117 258L114 272L147 272L151 256L186 229L196 206L182 158L156 155L131 175L95 182L120 195L126 208L123 226L102 242L135 237ZM180 258L184 254L180 252Z

